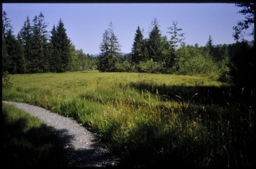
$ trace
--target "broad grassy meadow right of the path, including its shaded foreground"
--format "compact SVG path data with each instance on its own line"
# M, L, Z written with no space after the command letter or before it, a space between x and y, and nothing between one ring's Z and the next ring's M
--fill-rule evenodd
M125 166L252 166L254 93L218 75L11 75L3 100L72 117Z

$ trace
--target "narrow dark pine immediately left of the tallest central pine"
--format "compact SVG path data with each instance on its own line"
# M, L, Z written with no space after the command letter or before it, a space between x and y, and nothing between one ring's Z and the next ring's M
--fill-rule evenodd
M144 50L144 40L143 40L143 34L140 30L140 27L138 26L134 41L132 44L132 55L131 55L131 61L135 64L139 63L140 61L145 61L143 50Z

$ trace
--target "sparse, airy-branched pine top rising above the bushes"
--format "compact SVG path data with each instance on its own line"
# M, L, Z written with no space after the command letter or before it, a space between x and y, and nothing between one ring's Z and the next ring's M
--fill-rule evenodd
M176 21L176 22L173 21L172 26L168 28L170 31L167 32L167 33L171 34L170 45L171 45L171 48L173 49L174 53L178 49L178 46L179 46L178 43L182 43L182 41L185 39L184 38L185 33L179 33L179 31L182 31L182 29L177 28L177 25L178 25L178 21Z

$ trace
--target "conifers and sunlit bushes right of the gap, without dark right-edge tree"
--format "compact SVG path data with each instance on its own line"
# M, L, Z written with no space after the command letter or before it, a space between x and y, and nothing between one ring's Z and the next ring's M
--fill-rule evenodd
M151 22L148 38L144 38L140 26L134 35L131 53L122 57L119 54L120 44L113 32L113 24L103 34L100 45L102 51L97 59L100 71L130 71L164 74L207 74L212 72L226 76L229 73L230 59L234 55L234 48L239 44L214 45L211 35L205 46L199 44L186 45L185 33L173 21L167 33L171 34L168 41L166 35L161 34L156 18ZM248 44L248 43L247 43ZM249 45L249 44L248 44Z

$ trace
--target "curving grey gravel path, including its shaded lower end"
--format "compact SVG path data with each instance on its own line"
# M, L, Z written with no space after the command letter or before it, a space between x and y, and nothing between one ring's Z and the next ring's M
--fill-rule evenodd
M26 103L3 102L15 105L50 126L64 143L68 166L116 166L117 161L114 156L108 153L102 144L96 142L93 133L79 126L75 120Z

